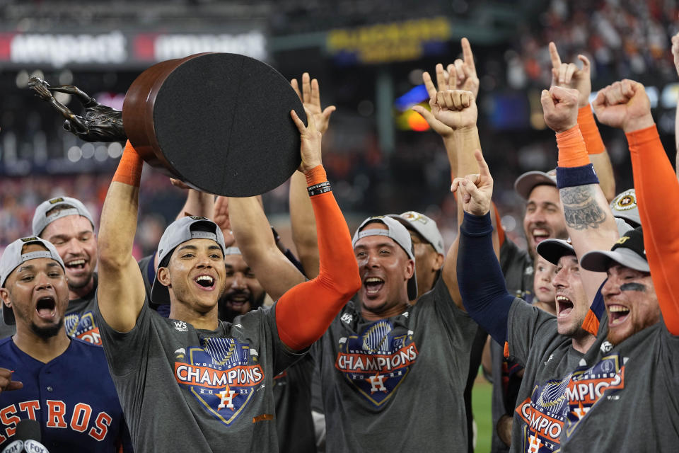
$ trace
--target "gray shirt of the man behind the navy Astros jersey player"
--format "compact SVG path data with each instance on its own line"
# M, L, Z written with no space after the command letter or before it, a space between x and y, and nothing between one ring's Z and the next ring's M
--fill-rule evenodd
M92 291L79 299L69 300L69 306L64 315L64 327L66 328L66 335L100 346L99 325L95 319L97 285L98 275L94 273ZM8 326L1 319L0 316L0 338L13 336L16 333L16 326Z

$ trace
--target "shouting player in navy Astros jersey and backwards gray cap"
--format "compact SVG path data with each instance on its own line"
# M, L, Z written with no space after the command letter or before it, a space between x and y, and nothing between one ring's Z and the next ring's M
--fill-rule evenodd
M67 272L37 236L14 241L0 258L2 316L16 320L16 334L0 340L0 363L13 370L0 393L0 449L31 418L52 453L118 452L123 439L131 451L103 349L66 336Z

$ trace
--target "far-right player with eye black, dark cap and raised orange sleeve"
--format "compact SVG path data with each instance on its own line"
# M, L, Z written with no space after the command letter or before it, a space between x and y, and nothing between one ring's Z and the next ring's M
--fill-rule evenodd
M593 107L600 122L625 131L644 231L629 231L612 248L581 259L583 268L608 276L601 289L608 334L595 360L568 382L562 445L572 452L672 451L679 441L673 369L679 304L672 283L678 228L668 207L679 201L679 185L642 84L622 80L603 88Z

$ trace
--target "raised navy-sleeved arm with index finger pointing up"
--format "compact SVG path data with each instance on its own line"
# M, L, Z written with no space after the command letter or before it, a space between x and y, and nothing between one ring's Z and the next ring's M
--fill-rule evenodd
M475 151L478 175L455 178L464 213L460 226L457 278L465 309L497 343L507 340L507 319L514 297L507 291L500 263L493 250L490 198L493 178L480 150Z

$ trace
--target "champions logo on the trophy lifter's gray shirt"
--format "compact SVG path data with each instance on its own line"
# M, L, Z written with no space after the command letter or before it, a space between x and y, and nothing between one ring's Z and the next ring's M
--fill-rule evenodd
M264 371L259 364L250 365L247 343L235 338L204 338L201 344L175 357L175 379L214 418L231 425L250 403L255 386L264 380Z

